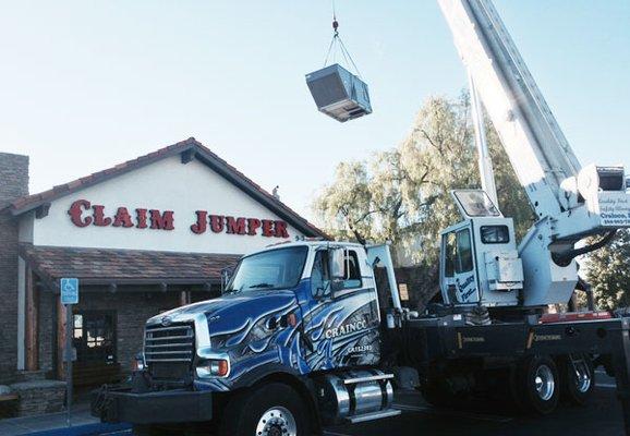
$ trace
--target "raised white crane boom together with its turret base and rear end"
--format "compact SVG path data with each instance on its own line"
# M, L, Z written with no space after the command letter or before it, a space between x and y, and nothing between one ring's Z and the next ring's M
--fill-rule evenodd
M602 245L576 250L576 243L606 234L604 243L617 229L630 227L625 170L581 167L490 0L438 3L537 217L518 247L524 304L566 303L578 280L576 256ZM483 185L492 186L486 180L492 172L480 168Z

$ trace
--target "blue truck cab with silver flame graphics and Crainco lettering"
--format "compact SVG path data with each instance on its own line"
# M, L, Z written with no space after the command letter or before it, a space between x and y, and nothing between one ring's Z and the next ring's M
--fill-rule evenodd
M392 375L379 367L376 264L391 268L387 245L299 241L244 256L220 298L148 319L134 388L109 392L101 417L301 435L313 423L398 414Z

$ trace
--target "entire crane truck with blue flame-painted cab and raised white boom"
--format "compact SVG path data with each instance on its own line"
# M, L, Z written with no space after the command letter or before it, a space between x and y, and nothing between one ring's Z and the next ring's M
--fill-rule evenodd
M545 314L580 286L576 257L630 227L623 168L580 166L489 0L439 4L470 74L484 187L452 192L462 221L441 233L441 303L402 306L388 245L269 246L240 261L222 296L148 319L142 371L98 390L94 414L138 434L209 422L222 435L302 436L396 416L404 385L437 405L506 387L546 414L560 393L586 401L603 364L630 435L629 320ZM536 215L519 244L496 202L482 101ZM577 245L586 237L599 240Z

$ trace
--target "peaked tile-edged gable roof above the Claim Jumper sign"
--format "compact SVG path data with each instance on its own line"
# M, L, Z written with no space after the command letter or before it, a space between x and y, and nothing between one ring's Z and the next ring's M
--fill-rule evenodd
M36 209L39 206L46 205L61 196L104 182L125 172L133 171L146 165L156 162L160 159L175 155L183 155L184 153L191 153L194 155L195 158L199 159L204 164L208 165L208 167L219 172L222 177L239 186L254 199L263 203L266 207L287 220L290 225L295 227L305 235L330 239L325 232L313 226L311 222L301 217L298 213L295 213L284 203L280 202L274 195L269 194L261 185L252 181L226 160L221 159L194 137L190 137L177 144L160 148L136 159L128 160L126 162L119 164L112 168L95 172L65 184L54 186L51 190L19 198L9 206L9 209L14 216L17 216L28 210Z

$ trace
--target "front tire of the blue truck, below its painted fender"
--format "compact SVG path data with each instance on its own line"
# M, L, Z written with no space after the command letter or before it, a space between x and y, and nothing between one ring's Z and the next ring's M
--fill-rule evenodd
M220 436L311 436L310 413L290 386L271 383L235 396L219 424Z

